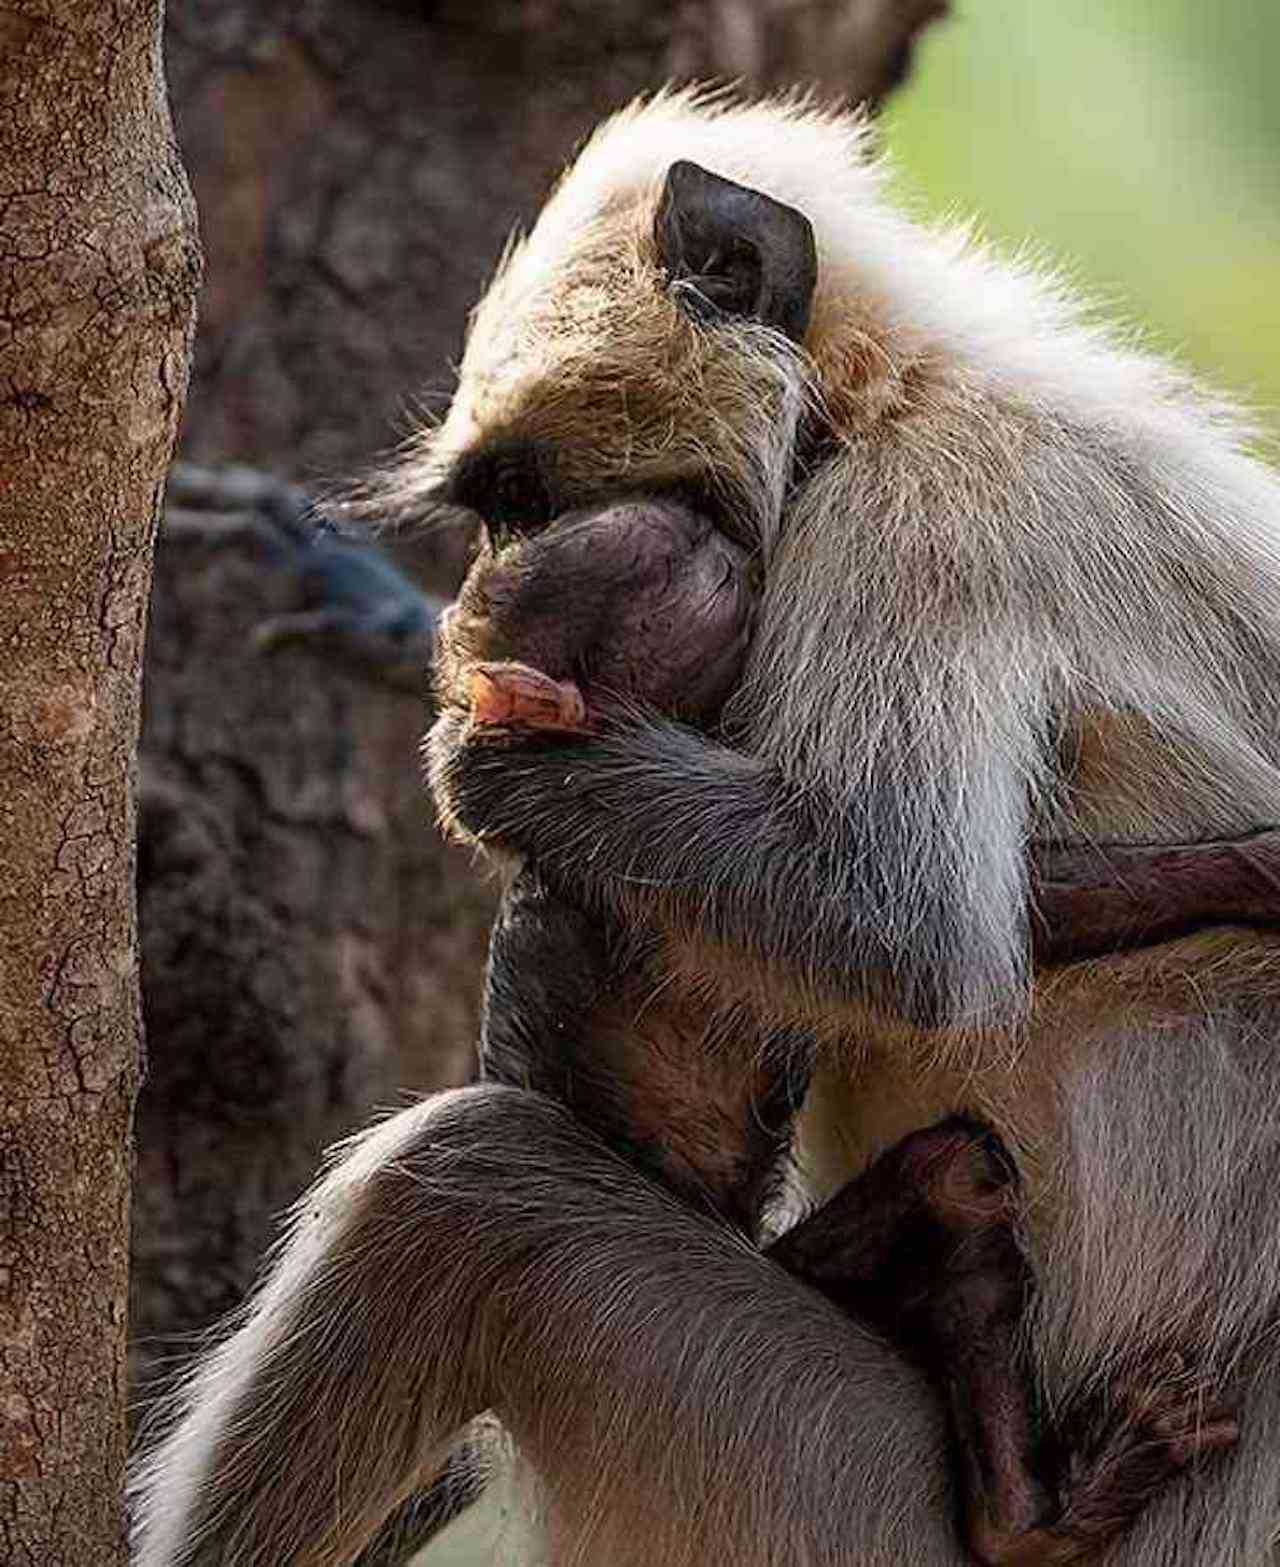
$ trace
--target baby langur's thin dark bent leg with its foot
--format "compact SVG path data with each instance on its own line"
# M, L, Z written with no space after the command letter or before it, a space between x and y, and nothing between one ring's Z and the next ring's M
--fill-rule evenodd
M1203 1418L1195 1388L1156 1368L1100 1443L1062 1454L1059 1434L1050 1451L1020 1352L1032 1276L1015 1202L995 1135L953 1119L896 1144L771 1255L929 1371L948 1406L974 1556L1058 1567L1128 1528L1238 1428Z

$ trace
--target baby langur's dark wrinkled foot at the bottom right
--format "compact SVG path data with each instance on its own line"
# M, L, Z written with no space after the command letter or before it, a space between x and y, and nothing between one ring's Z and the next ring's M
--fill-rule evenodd
M1067 1443L1073 1434L1064 1432ZM1062 1511L1031 1529L974 1518L970 1543L989 1567L1061 1567L1123 1533L1172 1481L1228 1453L1239 1440L1231 1410L1206 1402L1180 1357L1134 1379L1101 1439L1068 1445Z

